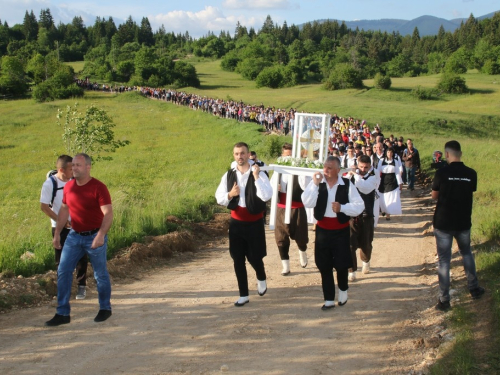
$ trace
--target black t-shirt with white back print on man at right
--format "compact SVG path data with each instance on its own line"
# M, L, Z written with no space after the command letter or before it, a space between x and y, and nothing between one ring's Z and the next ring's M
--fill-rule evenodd
M433 225L441 230L467 230L472 226L472 195L477 173L462 162L453 162L436 171L432 190L439 191Z

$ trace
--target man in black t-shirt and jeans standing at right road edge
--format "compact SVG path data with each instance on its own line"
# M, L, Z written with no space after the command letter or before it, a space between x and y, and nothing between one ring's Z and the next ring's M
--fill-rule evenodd
M439 299L436 309L441 311L451 307L449 290L453 238L462 256L472 298L477 299L484 294L477 280L476 263L470 246L472 196L477 188L477 173L461 161L460 143L449 141L444 147L448 165L436 171L432 182L432 199L437 200L433 225L439 257Z

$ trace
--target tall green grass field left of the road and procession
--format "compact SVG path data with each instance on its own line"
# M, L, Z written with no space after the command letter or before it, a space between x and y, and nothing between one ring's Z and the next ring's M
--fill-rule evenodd
M137 93L91 93L80 106L97 102L117 124L116 137L131 144L92 175L108 186L114 207L110 254L169 229L165 218L203 220L217 209L214 193L232 161L232 145L244 140L264 153L260 126L221 120L201 112L149 100ZM3 102L0 119L0 267L30 274L53 267L50 224L39 195L45 174L65 153L57 108L71 101ZM13 121L15 119L15 121ZM20 256L34 252L34 261Z

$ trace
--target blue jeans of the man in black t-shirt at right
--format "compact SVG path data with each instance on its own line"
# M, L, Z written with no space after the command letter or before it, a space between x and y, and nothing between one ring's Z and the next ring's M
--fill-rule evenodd
M476 262L470 247L470 229L463 231L448 231L434 228L434 236L436 237L438 262L438 279L439 279L439 299L441 302L450 300L450 262L451 262L451 245L453 238L457 241L462 263L467 276L467 286L469 291L477 288L479 283L476 276Z

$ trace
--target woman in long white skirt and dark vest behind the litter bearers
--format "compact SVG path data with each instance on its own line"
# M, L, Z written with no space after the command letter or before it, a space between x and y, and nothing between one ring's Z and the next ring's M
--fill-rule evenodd
M401 215L401 162L394 158L394 149L388 148L386 156L379 160L377 170L380 173L380 210L385 213L386 220L391 215Z

